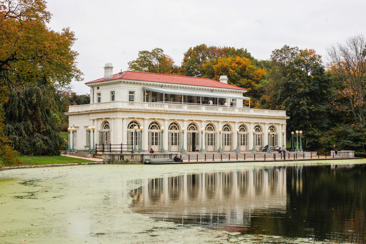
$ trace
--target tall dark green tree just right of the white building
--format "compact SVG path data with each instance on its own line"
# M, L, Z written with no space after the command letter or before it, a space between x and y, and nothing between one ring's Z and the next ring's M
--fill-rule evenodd
M319 138L334 125L329 109L332 86L321 56L285 45L272 52L270 61L260 108L286 110L287 132L304 131L307 143L319 149Z

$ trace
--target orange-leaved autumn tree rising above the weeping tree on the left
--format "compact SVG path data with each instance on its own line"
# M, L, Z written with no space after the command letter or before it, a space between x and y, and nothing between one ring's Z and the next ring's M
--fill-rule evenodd
M11 94L37 86L40 79L50 87L82 80L78 53L71 49L74 33L49 29L50 19L43 0L0 0L0 147L10 143L3 128L4 104Z

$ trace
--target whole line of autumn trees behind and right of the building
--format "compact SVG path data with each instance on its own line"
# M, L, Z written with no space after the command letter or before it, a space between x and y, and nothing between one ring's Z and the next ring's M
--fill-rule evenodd
M273 50L269 60L257 60L243 48L201 44L189 48L178 67L162 49L154 50L165 58L146 65L141 60L149 60L150 52L141 51L128 63L130 70L156 72L150 67L169 66L158 73L214 80L227 75L229 84L248 89L252 107L286 110L288 139L291 131L302 130L309 149L324 152L336 144L366 157L364 35L329 47L326 63L315 50L296 46L284 45Z

